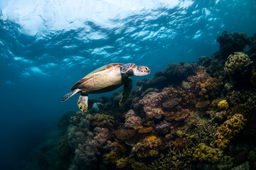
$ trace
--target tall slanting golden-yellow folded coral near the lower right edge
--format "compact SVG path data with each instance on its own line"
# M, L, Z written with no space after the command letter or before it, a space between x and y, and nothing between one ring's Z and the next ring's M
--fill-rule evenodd
M243 118L241 114L235 114L232 117L229 116L228 120L218 127L218 131L213 136L213 141L210 142L210 146L225 149L230 140L235 135L238 135L244 125L245 118Z

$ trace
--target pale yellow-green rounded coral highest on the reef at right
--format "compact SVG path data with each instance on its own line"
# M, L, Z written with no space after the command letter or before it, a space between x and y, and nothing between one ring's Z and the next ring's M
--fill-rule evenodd
M235 52L234 55L228 56L228 60L225 62L225 74L246 74L247 66L250 65L250 63L250 58L243 52Z

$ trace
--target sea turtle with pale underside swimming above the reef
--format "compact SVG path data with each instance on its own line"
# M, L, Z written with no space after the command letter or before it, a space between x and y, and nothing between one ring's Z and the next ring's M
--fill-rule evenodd
M150 69L145 66L135 66L134 63L112 63L95 69L78 81L69 94L63 96L61 101L66 101L74 94L80 92L78 107L80 111L87 111L88 94L100 94L117 89L124 84L122 98L119 105L122 106L129 98L132 91L132 79L129 76L145 76L150 74Z

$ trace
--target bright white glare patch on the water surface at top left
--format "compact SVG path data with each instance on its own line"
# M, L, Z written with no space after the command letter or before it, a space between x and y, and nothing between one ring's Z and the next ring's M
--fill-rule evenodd
M134 15L144 15L146 20L159 17L158 8L188 8L191 0L5 0L1 5L4 20L10 19L29 35L46 30L75 30L91 21L102 28L117 28L119 21ZM1 4L4 4L1 3ZM7 5L6 5L7 4ZM164 12L163 12L164 14ZM97 33L90 38L102 38ZM104 37L103 37L104 38Z

